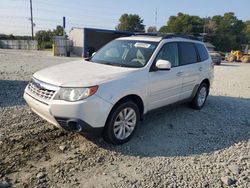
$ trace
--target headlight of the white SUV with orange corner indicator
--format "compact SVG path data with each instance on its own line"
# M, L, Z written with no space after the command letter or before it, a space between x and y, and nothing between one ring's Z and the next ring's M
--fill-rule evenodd
M55 99L65 101L79 101L94 95L98 89L98 86L92 86L88 88L60 88Z

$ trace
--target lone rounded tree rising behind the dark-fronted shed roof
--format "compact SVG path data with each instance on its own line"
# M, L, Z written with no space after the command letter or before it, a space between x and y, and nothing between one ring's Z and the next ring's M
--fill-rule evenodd
M116 26L119 31L145 32L143 20L137 14L123 14Z

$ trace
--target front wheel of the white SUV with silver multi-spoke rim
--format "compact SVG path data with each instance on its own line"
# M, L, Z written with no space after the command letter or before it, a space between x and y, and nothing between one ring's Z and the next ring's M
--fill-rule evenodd
M116 145L128 142L134 135L139 119L139 108L134 102L125 101L115 106L105 125L104 139Z

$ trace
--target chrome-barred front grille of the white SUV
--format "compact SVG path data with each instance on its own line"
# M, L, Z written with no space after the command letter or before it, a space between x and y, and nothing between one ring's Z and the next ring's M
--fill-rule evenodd
M29 82L28 90L36 97L44 100L51 100L55 94L55 90L46 89L41 82L32 79Z

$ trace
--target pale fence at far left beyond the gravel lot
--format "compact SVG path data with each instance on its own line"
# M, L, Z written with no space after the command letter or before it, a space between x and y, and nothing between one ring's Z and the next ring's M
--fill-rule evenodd
M0 48L20 49L20 50L37 50L37 41L36 40L0 40Z

